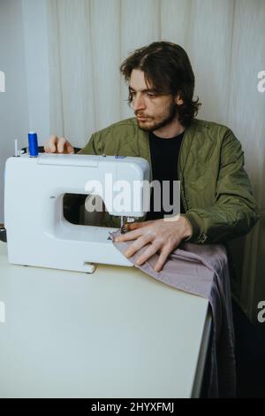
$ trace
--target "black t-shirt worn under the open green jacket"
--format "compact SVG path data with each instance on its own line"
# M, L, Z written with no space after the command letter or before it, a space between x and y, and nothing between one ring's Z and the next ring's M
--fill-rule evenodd
M167 211L173 204L173 181L178 181L178 155L183 140L184 132L176 137L164 139L157 137L154 133L149 133L149 145L151 154L151 164L153 172L153 181L159 181L163 189L163 181L169 181L169 188L164 188L161 192L161 211L156 212L154 206L154 191L151 190L150 210L147 213L147 220L158 220L164 215L172 214L173 210ZM163 204L163 193L166 205ZM184 213L180 198L180 212Z

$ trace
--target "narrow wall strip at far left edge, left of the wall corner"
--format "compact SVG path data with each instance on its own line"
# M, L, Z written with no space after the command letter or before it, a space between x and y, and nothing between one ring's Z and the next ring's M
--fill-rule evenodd
M13 154L14 139L27 135L27 81L22 8L18 0L0 3L0 70L5 92L0 92L0 221L4 218L4 162Z

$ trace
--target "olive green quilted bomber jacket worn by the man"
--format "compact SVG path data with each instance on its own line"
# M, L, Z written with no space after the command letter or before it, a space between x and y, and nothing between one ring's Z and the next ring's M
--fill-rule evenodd
M140 157L151 166L148 133L138 127L135 118L94 133L79 153ZM184 216L193 229L189 241L222 243L254 227L258 209L244 169L244 152L230 128L193 119L178 158ZM105 225L119 227L117 218L106 215Z

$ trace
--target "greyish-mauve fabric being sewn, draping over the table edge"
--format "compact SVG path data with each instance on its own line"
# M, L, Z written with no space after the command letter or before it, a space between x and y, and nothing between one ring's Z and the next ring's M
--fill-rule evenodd
M112 238L120 231L112 233ZM115 243L125 251L133 242ZM133 265L158 281L193 295L208 298L213 325L210 341L208 397L235 397L235 343L231 312L231 288L226 250L222 244L182 243L171 252L163 270L155 272L155 254L142 265L136 259L145 248L130 258Z

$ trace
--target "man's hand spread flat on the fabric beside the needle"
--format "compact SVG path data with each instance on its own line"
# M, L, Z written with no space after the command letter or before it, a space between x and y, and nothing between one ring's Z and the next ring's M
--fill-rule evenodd
M182 240L192 235L192 228L182 215L177 215L170 220L134 222L128 224L126 228L130 231L125 235L116 237L115 243L135 240L124 252L127 258L133 256L136 251L148 244L147 249L137 258L136 264L138 266L145 263L148 258L159 251L160 255L155 265L155 272L160 272L170 252L176 249Z

